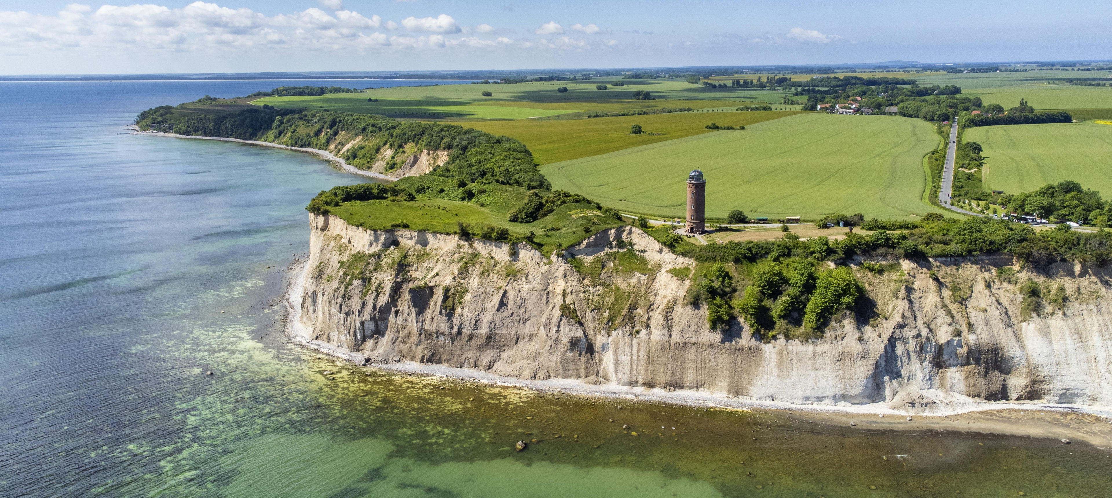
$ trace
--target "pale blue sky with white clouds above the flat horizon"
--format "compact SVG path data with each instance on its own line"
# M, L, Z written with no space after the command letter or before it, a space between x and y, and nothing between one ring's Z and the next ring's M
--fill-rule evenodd
M1112 59L1112 2L0 0L0 74Z

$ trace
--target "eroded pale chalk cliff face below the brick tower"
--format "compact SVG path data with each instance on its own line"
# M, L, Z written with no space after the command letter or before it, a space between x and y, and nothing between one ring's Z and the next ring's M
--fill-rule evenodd
M711 330L706 310L684 299L695 262L629 227L588 238L568 260L310 221L306 339L368 362L913 411L982 400L1112 407L1105 269L1001 277L996 268L1011 265L1002 258L935 261L933 277L929 263L878 276L858 268L871 311L844 312L818 338L762 342L736 320ZM1029 279L1056 295L1024 303Z

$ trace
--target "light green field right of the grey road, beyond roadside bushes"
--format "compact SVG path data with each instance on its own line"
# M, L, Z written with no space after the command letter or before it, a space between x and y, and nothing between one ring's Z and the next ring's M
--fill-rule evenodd
M984 147L984 188L1019 193L1074 180L1112 193L1112 124L1014 124L970 128L966 141Z

